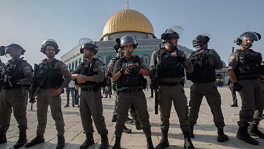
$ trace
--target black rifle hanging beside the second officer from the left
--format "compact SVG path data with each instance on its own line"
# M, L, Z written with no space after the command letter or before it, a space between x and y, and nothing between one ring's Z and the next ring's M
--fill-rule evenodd
M36 83L36 76L38 73L38 69L39 69L39 65L38 64L34 64L34 72L33 72L33 76L31 78L31 86L30 86L30 100L29 102L31 103L31 110L32 110L32 106L33 106L33 102L35 101L35 97L38 95L38 91L39 91L39 87L35 88L35 83Z

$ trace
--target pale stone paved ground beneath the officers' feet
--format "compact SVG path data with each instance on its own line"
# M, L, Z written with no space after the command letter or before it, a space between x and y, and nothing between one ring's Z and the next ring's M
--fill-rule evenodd
M222 96L222 111L225 118L224 132L229 136L229 140L224 143L220 143L216 141L217 137L217 129L213 123L213 116L211 114L210 108L204 98L201 109L199 112L199 118L197 121L197 125L194 126L194 134L195 138L192 139L192 143L195 148L264 148L264 140L256 138L259 142L259 145L250 145L245 143L242 140L236 138L236 133L238 130L237 120L239 118L239 110L241 107L230 107L232 104L231 92L227 88L218 88L221 96ZM150 114L150 124L152 131L152 140L153 145L158 145L159 140L161 139L161 133L159 128L160 116L155 115L154 113L154 98L149 98L150 90L144 91L147 97L148 102L148 111ZM190 100L190 89L185 88L185 93ZM103 95L104 96L104 95ZM114 97L114 95L112 96ZM115 123L111 122L112 112L114 109L114 98L103 98L103 106L104 106L104 117L107 129L109 131L108 138L110 147L114 145L114 131L115 131ZM62 107L66 104L66 93L62 94ZM31 104L28 104L27 109L30 109ZM241 106L240 97L238 97L238 106ZM84 142L85 135L82 129L82 121L80 118L79 108L77 106L75 108L68 107L62 108L63 117L65 121L65 148L79 148L79 146ZM160 114L160 113L159 113ZM33 110L27 110L27 118L28 118L28 130L27 136L28 140L32 140L36 135L37 129L37 114L36 114L36 104L33 105ZM184 138L182 132L180 130L179 119L177 114L172 108L171 117L170 117L170 131L169 131L169 142L170 146L168 148L183 148ZM264 128L264 122L261 121L261 127ZM146 148L146 139L142 130L136 130L136 127L133 125L127 125L128 128L132 129L131 134L123 133L121 139L122 148L128 149L141 149ZM95 127L94 127L95 129ZM261 130L264 132L264 130ZM46 132L44 135L45 142L40 143L38 145L33 146L32 148L56 148L57 144L57 131L55 129L55 122L51 117L50 109L48 111L48 123ZM7 143L1 144L0 149L4 148L12 148L13 145L18 140L18 128L15 118L11 117L11 126L7 132ZM90 148L98 148L101 145L100 135L97 133L95 129L94 133L94 141L95 144L90 146ZM21 147L24 148L24 147Z

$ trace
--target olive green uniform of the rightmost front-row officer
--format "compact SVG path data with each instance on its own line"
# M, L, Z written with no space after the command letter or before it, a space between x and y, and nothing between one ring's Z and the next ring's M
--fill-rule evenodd
M240 50L243 50L240 48ZM249 50L247 53L251 53L253 50ZM238 70L238 63L243 62L243 55L236 50L231 53L229 57L228 70ZM255 78L246 79L243 78ZM244 127L250 124L258 125L261 120L263 113L263 91L261 87L261 81L259 75L247 75L247 76L237 76L238 83L243 86L243 93L239 93L241 97L242 107L239 111L239 121L238 126ZM240 80L242 79L242 80ZM250 124L249 124L250 123Z

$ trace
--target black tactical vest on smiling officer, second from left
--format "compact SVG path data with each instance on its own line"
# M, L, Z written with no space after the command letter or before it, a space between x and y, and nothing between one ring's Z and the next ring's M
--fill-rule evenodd
M54 69L55 65L57 64L57 61L59 60L53 60L50 63L48 62L42 62L39 64L38 73L36 75L36 78L38 81L36 81L36 86L39 85L40 81L42 80L43 76L47 75L47 78L41 85L44 86L56 86L59 87L62 82L64 81L62 74L58 73L58 69Z

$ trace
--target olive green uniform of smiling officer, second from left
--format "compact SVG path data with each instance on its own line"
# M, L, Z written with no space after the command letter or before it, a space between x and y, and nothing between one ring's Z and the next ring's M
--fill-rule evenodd
M47 58L42 60L43 62L47 62ZM53 59L53 61L57 61L57 59ZM64 76L64 81L57 88L67 88L70 83L70 73L67 70L65 63L62 61L57 61L54 66L55 70L58 70L57 73L62 74ZM56 96L50 96L50 91L54 91L57 88L49 88L46 86L44 88L40 88L37 99L37 117L38 117L38 127L37 127L37 135L44 135L45 128L47 124L47 113L48 106L50 106L51 116L53 120L55 120L57 136L64 135L64 120L61 111L61 98L60 94Z

